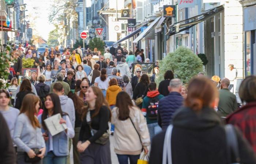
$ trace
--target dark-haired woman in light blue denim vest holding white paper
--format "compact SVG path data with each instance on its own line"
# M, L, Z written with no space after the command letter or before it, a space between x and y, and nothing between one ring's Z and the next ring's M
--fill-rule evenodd
M60 124L66 124L67 129L52 136L44 120L55 114L61 114ZM46 154L43 164L65 164L68 156L68 138L75 136L74 128L67 113L62 112L60 99L57 94L50 93L45 99L44 112L38 116L42 124L42 133L46 144Z

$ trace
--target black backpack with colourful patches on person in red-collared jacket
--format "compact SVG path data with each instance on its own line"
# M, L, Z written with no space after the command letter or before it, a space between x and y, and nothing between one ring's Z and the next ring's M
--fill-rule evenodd
M157 119L158 102L159 102L159 99L157 98L158 95L151 98L150 101L148 101L149 105L147 107L147 117L148 117L149 120Z

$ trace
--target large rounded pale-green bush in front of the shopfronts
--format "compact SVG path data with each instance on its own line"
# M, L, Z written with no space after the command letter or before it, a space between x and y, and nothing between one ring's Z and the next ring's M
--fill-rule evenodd
M172 70L175 78L181 79L183 83L203 71L203 62L187 47L179 47L176 51L169 53L159 63L160 72L156 81L159 84L164 78L167 70Z

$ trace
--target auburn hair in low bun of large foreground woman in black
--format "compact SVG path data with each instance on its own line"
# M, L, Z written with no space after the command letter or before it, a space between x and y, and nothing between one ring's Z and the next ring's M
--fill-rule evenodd
M204 107L209 107L216 97L218 97L218 91L210 79L206 77L193 78L188 85L185 106L199 111Z

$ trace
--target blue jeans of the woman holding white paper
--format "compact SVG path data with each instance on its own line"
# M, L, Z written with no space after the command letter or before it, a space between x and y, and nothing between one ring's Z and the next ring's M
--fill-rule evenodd
M43 164L66 164L67 156L58 157L53 154L53 151L49 151L43 158Z

